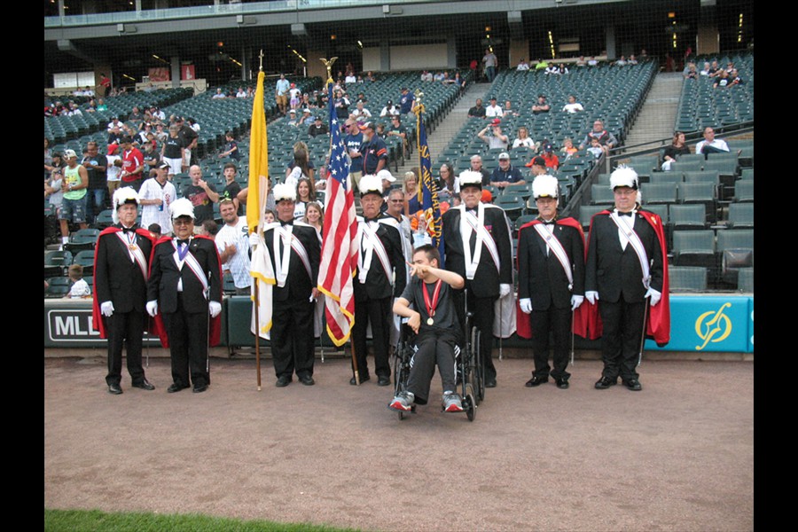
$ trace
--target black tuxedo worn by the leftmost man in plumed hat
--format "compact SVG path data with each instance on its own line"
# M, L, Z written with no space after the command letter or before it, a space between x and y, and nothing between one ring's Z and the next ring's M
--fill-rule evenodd
M113 227L122 229L119 223ZM97 241L94 253L94 299L97 306L106 301L113 303L111 317L98 315L104 322L103 329L108 338L106 383L121 383L121 352L122 346L127 345L128 372L136 385L145 380L141 348L142 332L145 331L146 323L147 286L140 266L130 259L126 242L129 242L128 237L134 239L133 245L141 249L147 270L153 251L153 239L128 231L121 233L126 236L126 242L122 242L118 234L119 231L106 230Z

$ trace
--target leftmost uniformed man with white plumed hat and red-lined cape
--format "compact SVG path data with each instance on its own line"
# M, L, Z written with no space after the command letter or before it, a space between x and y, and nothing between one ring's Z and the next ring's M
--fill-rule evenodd
M127 348L133 387L154 390L141 365L146 330L147 277L153 237L137 226L138 194L126 186L113 192L113 225L99 235L94 252L93 324L108 339L108 393L120 395L121 352Z

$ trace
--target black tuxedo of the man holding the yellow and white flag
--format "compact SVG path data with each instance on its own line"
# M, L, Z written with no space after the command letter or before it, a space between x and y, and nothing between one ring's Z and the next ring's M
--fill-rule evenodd
M272 292L271 354L278 378L289 379L293 372L298 377L313 375L313 311L316 304L309 301L317 286L318 264L321 249L316 230L304 223L293 223L293 235L305 247L310 264L310 275L293 249L288 259L288 276L285 286L275 285ZM263 233L269 250L271 266L277 272L279 257L274 256L274 239L278 239L280 253L283 243L278 231L271 228Z

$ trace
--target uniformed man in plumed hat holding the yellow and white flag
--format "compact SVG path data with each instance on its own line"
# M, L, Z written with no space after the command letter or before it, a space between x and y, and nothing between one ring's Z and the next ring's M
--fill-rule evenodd
M318 297L321 248L316 230L293 219L296 188L274 187L277 221L264 227L276 284L272 293L271 354L276 386L286 387L293 373L306 386L313 380L313 312Z

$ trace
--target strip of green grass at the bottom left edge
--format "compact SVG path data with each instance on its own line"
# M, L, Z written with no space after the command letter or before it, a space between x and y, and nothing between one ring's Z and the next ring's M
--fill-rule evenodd
M267 520L208 517L197 513L100 512L99 510L44 510L46 532L354 532L310 524L284 524Z

